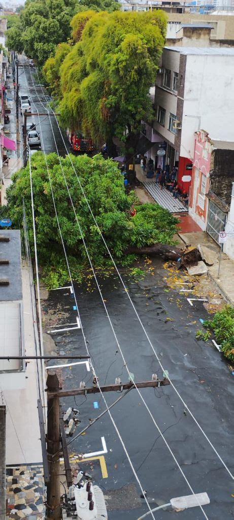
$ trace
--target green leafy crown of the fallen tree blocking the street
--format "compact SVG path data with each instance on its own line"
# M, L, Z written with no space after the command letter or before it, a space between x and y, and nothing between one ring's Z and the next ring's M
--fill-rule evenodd
M88 210L69 157L60 160L92 262L99 268L108 266L110 261L105 245ZM123 176L112 160L105 161L99 154L93 159L87 155L72 156L72 161L98 226L115 259L122 264L129 263L133 257L126 254L128 246L140 248L155 242L173 243L177 219L158 204L140 204L134 192L127 195ZM47 286L52 288L68 281L69 277L44 154L33 154L31 162L38 263L44 269ZM47 162L72 276L74 280L80 281L88 266L81 232L72 209L59 158L55 153L50 153L47 155ZM12 185L7 189L8 204L5 211L17 229L23 228L22 199L29 242L33 251L29 165L12 176ZM133 205L137 209L134 217L131 216Z

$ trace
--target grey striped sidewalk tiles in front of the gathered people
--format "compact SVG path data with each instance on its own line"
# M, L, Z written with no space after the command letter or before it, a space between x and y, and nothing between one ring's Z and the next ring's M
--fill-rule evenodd
M142 181L142 184L153 197L155 202L164 207L165 210L170 211L170 213L185 213L188 211L187 207L184 206L179 199L173 197L172 193L170 193L166 188L161 190L159 184L156 184L155 181L144 180Z

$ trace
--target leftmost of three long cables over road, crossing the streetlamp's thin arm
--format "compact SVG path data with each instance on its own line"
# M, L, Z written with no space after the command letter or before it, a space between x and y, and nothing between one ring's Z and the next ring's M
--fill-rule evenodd
M30 72L31 72L31 71L30 71ZM36 109L36 111L37 111L37 114L38 114L38 119L39 119L39 121L40 121L40 117L39 117L38 110ZM42 137L42 144L43 144L43 137ZM43 144L43 149L44 149L44 144ZM50 178L50 174L49 174L49 168L48 168L48 163L47 163L47 159L46 159L46 154L45 154L45 152L44 152L44 156L45 156L45 162L46 162L46 167L47 167L47 172L48 172L48 177L49 177L49 184L50 184L51 195L52 195L53 202L54 202L55 213L56 213L56 218L57 218L58 228L59 228L59 232L60 232L60 238L61 238L61 241L62 241L63 250L64 250L64 254L65 254L66 262L67 262L67 267L68 267L68 271L69 271L69 277L70 277L70 280L71 280L72 290L73 290L73 294L74 294L74 300L75 300L75 304L76 304L77 315L78 315L78 318L79 318L79 321L80 321L80 325L81 325L81 331L82 331L82 335L83 335L83 339L84 339L84 344L85 344L86 352L87 352L87 354L89 355L89 351L88 351L88 347L87 347L87 342L86 342L86 338L85 338L84 330L83 330L82 323L81 323L81 319L80 319L80 313L79 313L79 308L78 308L78 305L77 305L77 300L76 300L76 295L75 295L75 291L74 291L73 281L72 281L72 277L71 277L71 271L70 271L70 266L69 266L69 262L68 262L68 258L67 258L67 252L66 252L66 249L65 249L65 246L64 246L64 241L63 241L62 234L61 234L61 228L60 228L60 225L59 225L59 219L58 219L58 214L57 214L57 210L56 210L55 199L54 199L54 193L53 193L53 188L52 188L52 185L51 185L51 178ZM91 368L91 370L92 370L92 372L93 372L93 375L94 375L94 377L95 377L95 379L96 379L96 381L97 381L97 386L98 386L98 388L99 388L99 392L100 392L100 394L102 395L102 398L103 398L103 401L105 402L106 408L108 408L108 404L107 404L106 398L105 398L105 396L103 395L103 393L102 393L102 391L101 391L101 388L100 388L100 385L99 385L99 382L98 382L97 375L96 375L96 373L95 373L94 367L93 367L93 365L92 365L90 359L89 359L89 364L90 364L90 368ZM133 473L134 473L134 475L135 475L135 478L136 478L136 480L137 480L137 483L138 483L138 485L139 485L139 487L140 487L140 489L141 489L141 492L143 493L144 490L143 490L142 485L141 485L141 483L140 483L140 480L139 480L139 478L138 478L138 476L137 476L137 474L136 474L136 472L135 472L135 469L134 469L133 463L132 463L132 461L131 461L131 459L130 459L130 457L129 457L129 454L128 454L127 449L126 449L125 444L124 444L124 441L123 441L123 439L122 439L122 437L121 437L121 435L120 435L119 429L118 429L117 425L116 425L115 422L114 422L114 419L113 419L113 417L112 417L112 415L111 415L111 413L110 413L110 410L107 410L107 411L108 411L109 417L110 417L110 419L111 419L111 422L112 422L112 424L113 424L113 426L114 426L114 428L115 428L116 434L118 435L119 440L120 440L120 442L121 442L121 445L122 445L122 447L123 447L123 449L124 449L124 452L125 452L125 454L126 454L126 457L127 457L128 462L129 462L129 465L131 466L132 471L133 471ZM147 500L146 497L145 497L145 500L146 500L146 503L147 503L147 506L148 506L149 512L151 513L151 508L150 508L149 502L148 502L148 500ZM151 516L152 516L152 518L154 518L154 520L155 520L155 517L154 517L153 513L151 513Z

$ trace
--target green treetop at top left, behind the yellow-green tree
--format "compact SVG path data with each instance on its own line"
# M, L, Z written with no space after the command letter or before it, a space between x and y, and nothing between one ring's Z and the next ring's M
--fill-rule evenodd
M92 8L113 10L118 8L118 2L93 0ZM57 44L70 38L71 19L81 9L88 9L84 0L26 0L20 16L14 17L8 24L8 48L18 53L24 51L40 67L43 66L55 54Z

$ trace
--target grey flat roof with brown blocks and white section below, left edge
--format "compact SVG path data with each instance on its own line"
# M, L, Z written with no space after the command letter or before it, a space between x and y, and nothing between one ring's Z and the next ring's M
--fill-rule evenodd
M1 356L23 356L24 334L20 231L1 230L0 245ZM24 371L25 363L22 360L0 360L2 389L23 388L25 386Z

